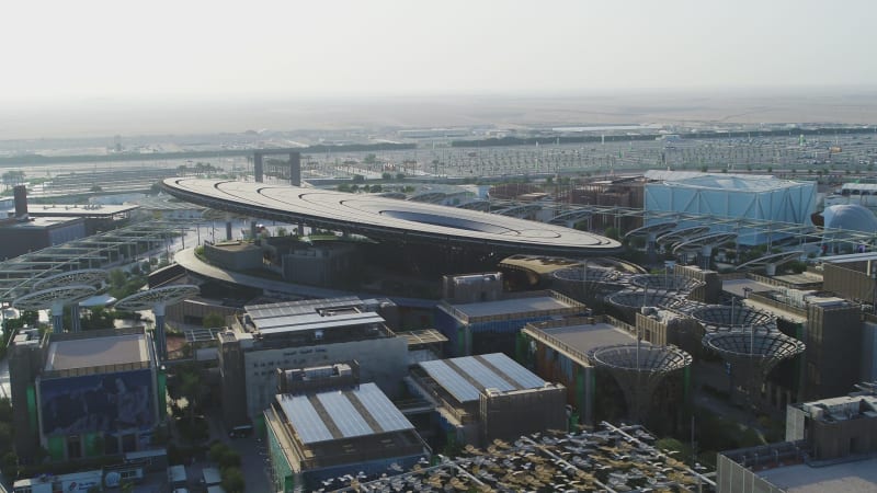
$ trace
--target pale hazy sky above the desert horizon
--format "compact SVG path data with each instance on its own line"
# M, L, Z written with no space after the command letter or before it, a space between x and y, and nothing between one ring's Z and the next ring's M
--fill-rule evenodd
M0 103L877 85L877 2L35 1Z

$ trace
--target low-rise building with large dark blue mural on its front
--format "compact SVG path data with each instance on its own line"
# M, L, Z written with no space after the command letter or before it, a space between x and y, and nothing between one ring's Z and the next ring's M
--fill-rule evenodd
M46 334L21 331L10 352L15 450L24 463L155 448L164 375L143 328Z

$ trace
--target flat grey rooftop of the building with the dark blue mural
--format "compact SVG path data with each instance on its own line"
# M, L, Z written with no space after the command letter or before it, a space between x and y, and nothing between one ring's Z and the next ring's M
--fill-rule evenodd
M56 341L48 346L46 371L148 360L149 348L144 334Z

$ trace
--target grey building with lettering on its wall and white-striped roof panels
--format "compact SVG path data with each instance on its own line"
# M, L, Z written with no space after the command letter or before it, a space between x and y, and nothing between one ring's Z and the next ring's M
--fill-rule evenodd
M379 301L357 297L244 307L218 334L223 417L253 424L276 394L277 368L357 360L362 381L396 395L408 368L408 341L385 324Z

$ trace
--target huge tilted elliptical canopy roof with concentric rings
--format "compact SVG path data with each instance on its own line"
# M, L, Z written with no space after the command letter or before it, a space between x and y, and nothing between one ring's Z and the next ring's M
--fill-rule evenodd
M168 179L171 195L215 209L395 239L408 243L489 245L497 250L605 254L620 243L599 234L477 210L304 188L197 179Z

